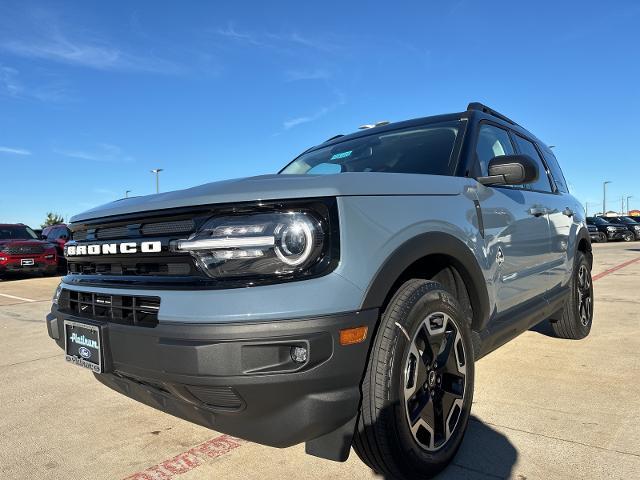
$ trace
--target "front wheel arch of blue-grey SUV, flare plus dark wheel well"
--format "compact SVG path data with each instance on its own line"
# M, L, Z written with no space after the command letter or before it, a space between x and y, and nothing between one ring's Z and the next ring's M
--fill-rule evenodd
M370 283L362 308L384 309L408 278L434 279L446 269L452 270L451 284L457 288L462 282L465 288L473 330L482 330L491 311L486 279L472 250L455 236L443 232L423 233L399 246ZM444 278L446 281L446 276Z

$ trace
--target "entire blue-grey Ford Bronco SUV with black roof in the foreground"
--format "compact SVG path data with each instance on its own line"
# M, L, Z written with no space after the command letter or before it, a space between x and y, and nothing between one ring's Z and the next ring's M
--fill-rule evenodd
M546 319L591 329L582 207L545 144L477 103L70 228L47 316L68 361L250 441L353 446L392 478L452 459L476 360Z

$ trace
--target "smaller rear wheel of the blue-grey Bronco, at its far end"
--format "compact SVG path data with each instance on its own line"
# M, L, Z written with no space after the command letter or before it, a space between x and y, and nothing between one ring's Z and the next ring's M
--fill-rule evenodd
M593 323L593 281L591 266L584 253L578 251L574 275L569 287L571 293L562 309L560 318L551 321L556 336L580 340L589 335Z

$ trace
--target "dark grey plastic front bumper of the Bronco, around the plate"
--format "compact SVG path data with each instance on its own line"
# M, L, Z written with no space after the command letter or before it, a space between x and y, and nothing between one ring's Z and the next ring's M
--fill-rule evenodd
M64 348L64 319L47 315ZM107 323L104 365L110 388L185 420L250 441L287 447L353 421L378 311L232 324L154 328ZM86 319L84 320L86 321ZM363 343L341 346L341 329L367 326ZM306 362L292 346L308 349Z

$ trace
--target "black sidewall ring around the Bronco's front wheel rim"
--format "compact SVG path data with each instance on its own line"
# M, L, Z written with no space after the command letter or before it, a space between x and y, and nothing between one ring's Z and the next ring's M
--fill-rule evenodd
M437 284L434 284L437 285ZM474 386L474 360L473 345L471 342L471 330L469 321L464 318L462 309L455 299L446 291L432 287L422 295L413 305L408 305L408 313L398 321L408 333L409 338L413 338L416 330L422 325L424 318L435 312L443 312L450 316L456 328L460 331L465 349L466 363L466 385L463 400L462 412L458 424L447 443L435 452L423 450L413 438L409 428L404 403L404 366L409 355L410 341L406 338L402 330L394 326L394 341L390 349L388 359L389 370L386 375L386 395L393 405L393 423L397 442L394 442L398 449L397 454L405 458L405 468L407 466L417 469L420 473L432 475L444 468L455 455L462 443L467 423L471 413ZM428 470L420 467L428 466ZM400 466L402 468L402 466Z

